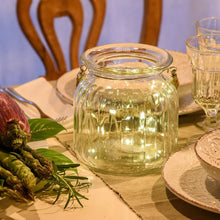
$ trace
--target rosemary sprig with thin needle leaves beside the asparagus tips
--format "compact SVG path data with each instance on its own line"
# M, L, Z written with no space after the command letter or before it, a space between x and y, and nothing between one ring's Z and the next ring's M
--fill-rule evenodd
M53 173L51 177L47 180L46 184L41 190L38 190L35 193L45 192L45 191L56 191L56 199L54 200L53 204L55 204L61 194L67 194L68 198L64 209L67 208L70 201L73 202L76 200L81 207L83 204L81 203L80 199L86 199L87 197L79 193L81 189L88 188L91 183L81 182L80 180L86 181L88 180L87 177L79 176L77 167L79 164L68 164L68 165L56 165L53 163ZM68 175L66 174L68 171ZM69 174L71 172L71 175Z

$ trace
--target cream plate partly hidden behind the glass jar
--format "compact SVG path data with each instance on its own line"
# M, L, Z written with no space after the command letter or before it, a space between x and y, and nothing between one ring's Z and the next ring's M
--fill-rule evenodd
M191 94L192 74L185 53L169 51L173 56L173 64L177 67L177 75L180 86L179 93L179 115L196 112L201 108L194 102ZM68 103L73 103L73 95L76 88L76 76L79 68L65 73L57 80L56 89L58 94Z

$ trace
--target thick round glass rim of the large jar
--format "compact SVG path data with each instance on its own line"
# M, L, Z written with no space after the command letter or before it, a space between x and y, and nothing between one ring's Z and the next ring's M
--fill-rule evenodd
M115 67L118 57L124 59L139 59L144 62L138 67ZM114 61L112 62L113 59ZM116 43L96 46L86 50L80 57L82 65L95 75L109 78L134 78L128 69L135 73L135 77L146 77L149 74L161 73L173 62L173 57L164 49L140 43ZM103 61L104 60L104 61ZM103 64L105 62L105 64ZM110 63L111 66L107 66ZM147 63L147 64L146 64ZM149 65L150 63L150 65Z

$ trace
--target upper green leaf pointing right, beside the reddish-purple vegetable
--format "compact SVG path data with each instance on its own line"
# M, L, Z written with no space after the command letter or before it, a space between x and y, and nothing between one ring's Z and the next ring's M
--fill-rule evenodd
M31 140L40 141L53 137L65 128L56 121L44 118L29 119L28 123L31 128Z

